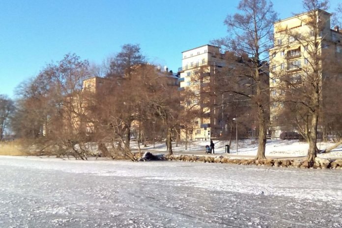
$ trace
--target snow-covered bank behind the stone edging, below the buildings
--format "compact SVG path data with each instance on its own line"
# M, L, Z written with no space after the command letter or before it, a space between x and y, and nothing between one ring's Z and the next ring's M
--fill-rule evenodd
M215 143L215 153L225 153L225 145L228 144L228 141L214 141ZM176 146L176 142L172 142L172 150L173 152L204 152L205 145L209 145L209 141L194 141L187 144L187 148L185 148L185 143L179 142L178 146ZM318 149L326 149L333 145L333 142L318 142ZM144 150L165 152L166 145L165 142L157 142L155 143L155 148L153 148L153 144L147 145L147 147L143 147ZM137 143L132 142L132 148L137 149ZM266 157L274 156L274 157L301 157L306 156L308 153L309 144L306 142L299 142L298 140L267 140L266 143ZM251 155L255 156L257 151L257 141L256 140L243 140L238 143L238 155ZM230 148L231 154L236 154L236 142L233 140L231 142ZM326 154L318 154L318 157L324 158L342 158L342 145L330 153Z

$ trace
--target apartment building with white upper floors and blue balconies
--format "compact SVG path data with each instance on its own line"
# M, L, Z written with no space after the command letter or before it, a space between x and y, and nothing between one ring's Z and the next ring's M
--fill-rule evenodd
M212 130L217 111L213 105L217 103L210 94L210 87L214 83L214 75L222 68L225 61L220 54L220 49L213 45L203 45L182 52L182 66L178 68L180 73L179 90L192 91L191 98L184 98L185 109L198 111L197 117L191 120L190 131L181 131L181 139L185 140L209 140L213 137Z

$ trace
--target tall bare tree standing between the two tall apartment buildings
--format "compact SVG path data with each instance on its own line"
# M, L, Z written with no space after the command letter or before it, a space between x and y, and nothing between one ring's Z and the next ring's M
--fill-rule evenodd
M273 44L272 24L277 19L277 14L273 11L273 4L266 0L241 0L237 9L241 13L228 15L225 20L230 36L214 43L234 52L236 56L244 57L244 64L249 68L248 73L245 70L245 73L240 72L239 75L253 81L255 94L232 92L245 96L256 104L259 137L256 159L264 159L269 90L263 75L268 73L268 50Z

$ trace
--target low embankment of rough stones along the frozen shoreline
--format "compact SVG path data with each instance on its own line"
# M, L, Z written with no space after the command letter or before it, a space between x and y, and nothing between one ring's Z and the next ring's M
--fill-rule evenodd
M312 167L308 161L295 159L230 159L224 156L196 156L196 155L164 155L165 160L185 161L185 162L208 162L208 163L228 163L237 165L275 166L275 167L295 167L313 169L342 169L342 159L330 160L326 158L316 158Z

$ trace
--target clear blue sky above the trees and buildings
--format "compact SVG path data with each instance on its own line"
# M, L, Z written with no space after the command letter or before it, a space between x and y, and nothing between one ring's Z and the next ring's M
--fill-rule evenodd
M331 1L331 10L338 0ZM67 53L100 64L123 44L177 71L181 52L227 35L238 0L0 0L0 94ZM274 0L279 18L300 0Z

